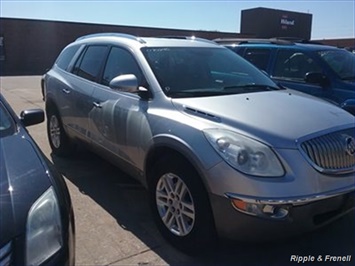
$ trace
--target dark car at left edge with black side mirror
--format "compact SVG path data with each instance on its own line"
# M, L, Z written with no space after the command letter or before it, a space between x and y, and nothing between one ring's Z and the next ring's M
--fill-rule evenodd
M0 95L0 265L74 265L68 189L25 129L41 109L18 118Z

